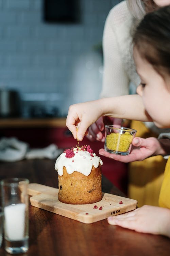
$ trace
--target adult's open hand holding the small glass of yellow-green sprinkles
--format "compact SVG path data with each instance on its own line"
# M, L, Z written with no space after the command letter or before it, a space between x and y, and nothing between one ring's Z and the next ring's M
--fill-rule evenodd
M160 145L159 140L154 137L147 139L135 137L132 141L132 145L133 147L131 153L126 156L108 153L103 148L99 150L99 154L121 162L133 162L142 161L143 159L146 159L150 156L165 153L162 150L162 146Z

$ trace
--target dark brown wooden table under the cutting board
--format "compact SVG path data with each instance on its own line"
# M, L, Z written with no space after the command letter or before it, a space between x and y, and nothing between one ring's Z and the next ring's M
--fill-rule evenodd
M26 177L57 187L54 160L0 163L0 180ZM103 178L103 191L123 196ZM84 224L30 205L29 251L24 256L169 256L170 239L112 226L107 220ZM2 248L0 255L10 255Z

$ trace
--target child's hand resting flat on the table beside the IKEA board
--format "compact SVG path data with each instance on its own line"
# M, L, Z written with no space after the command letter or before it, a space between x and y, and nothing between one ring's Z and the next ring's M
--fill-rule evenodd
M134 211L108 217L108 223L137 232L162 234L170 237L170 210L144 205Z

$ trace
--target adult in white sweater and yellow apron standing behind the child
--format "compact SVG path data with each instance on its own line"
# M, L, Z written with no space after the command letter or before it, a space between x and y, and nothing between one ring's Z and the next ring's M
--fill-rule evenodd
M135 94L140 79L130 51L132 49L132 31L146 13L169 4L170 0L126 0L119 1L109 11L103 30L104 66L100 98L126 95L129 94L129 90L131 94ZM108 118L106 119L108 122ZM104 132L102 131L106 119L101 116L90 125L87 135L90 141L104 141ZM109 118L109 124L121 125L121 123L122 119ZM157 128L152 122L132 120L129 122L129 126L137 130L137 136L142 138L157 138L160 133L170 132L170 129ZM113 154L108 154L107 157L112 158ZM133 161L126 166L128 169L127 193L130 198L138 201L138 207L144 204L158 206L166 162L166 159L158 155L142 161ZM141 171L142 175L140 175ZM148 175L148 171L150 175Z

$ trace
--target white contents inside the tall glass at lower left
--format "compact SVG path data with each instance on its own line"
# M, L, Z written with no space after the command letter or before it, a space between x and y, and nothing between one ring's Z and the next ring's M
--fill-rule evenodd
M8 239L19 241L24 238L26 204L18 203L4 207L5 230Z

